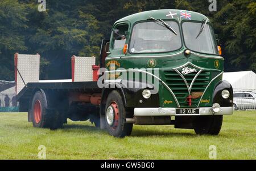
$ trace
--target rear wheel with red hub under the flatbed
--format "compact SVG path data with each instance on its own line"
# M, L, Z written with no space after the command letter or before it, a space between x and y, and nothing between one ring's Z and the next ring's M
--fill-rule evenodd
M46 100L40 91L36 92L32 104L31 114L34 127L58 129L63 126L63 116L58 110L46 109Z

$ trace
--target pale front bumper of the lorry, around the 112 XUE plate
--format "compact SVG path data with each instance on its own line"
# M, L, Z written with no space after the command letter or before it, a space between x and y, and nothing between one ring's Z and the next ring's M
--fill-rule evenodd
M222 107L220 112L214 113L212 108L196 108L199 114L176 114L180 108L134 108L134 116L213 116L231 115L233 107Z

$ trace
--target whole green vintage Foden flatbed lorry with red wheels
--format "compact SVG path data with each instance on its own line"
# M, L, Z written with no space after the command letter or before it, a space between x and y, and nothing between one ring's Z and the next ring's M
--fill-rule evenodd
M233 114L221 48L210 20L197 12L154 10L118 20L98 63L105 71L92 82L25 83L17 96L28 121L57 129L68 118L90 119L116 137L131 135L134 124L218 135L222 116Z

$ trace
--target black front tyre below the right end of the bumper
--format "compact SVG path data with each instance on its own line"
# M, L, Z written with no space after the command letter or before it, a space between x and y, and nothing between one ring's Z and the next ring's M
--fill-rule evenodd
M218 135L221 130L223 116L197 116L193 128L199 135Z

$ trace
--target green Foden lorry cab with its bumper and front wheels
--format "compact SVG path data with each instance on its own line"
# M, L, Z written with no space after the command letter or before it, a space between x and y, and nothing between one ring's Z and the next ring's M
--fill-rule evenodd
M106 89L123 101L105 104L102 99L110 134L122 124L120 105L127 112L125 125L173 124L197 134L217 135L222 116L233 114L233 89L222 80L224 58L206 16L185 10L140 12L115 22L108 44L105 79L116 89ZM136 79L136 73L147 76ZM131 132L127 127L125 135Z

